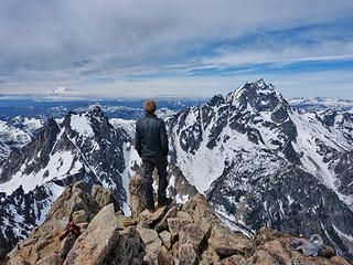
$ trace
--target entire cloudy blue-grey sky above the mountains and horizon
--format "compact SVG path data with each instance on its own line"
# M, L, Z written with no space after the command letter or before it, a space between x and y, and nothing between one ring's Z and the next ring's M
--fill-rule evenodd
M352 0L1 0L0 94L353 98L352 29Z

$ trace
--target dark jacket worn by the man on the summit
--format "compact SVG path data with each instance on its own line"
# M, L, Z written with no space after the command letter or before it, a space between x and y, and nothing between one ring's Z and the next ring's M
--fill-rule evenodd
M140 157L168 156L165 124L154 114L147 114L136 123L135 148Z

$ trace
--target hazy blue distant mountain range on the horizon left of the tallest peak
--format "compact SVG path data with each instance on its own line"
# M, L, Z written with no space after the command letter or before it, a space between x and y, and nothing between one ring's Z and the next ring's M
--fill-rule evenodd
M206 102L190 98L157 98L156 100L161 113L179 112ZM94 106L99 106L109 118L138 119L143 116L143 102L145 99L76 99L75 97L71 100L56 97L49 97L44 100L43 98L15 98L0 95L0 119L9 120L17 116L65 117L71 110L81 113Z

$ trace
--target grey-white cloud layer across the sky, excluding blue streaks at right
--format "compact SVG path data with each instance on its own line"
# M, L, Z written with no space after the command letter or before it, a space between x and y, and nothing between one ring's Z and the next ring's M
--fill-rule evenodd
M317 46L280 45L269 39L238 50L214 50L216 56L190 53L215 41L334 22L352 10L353 1L344 0L2 0L0 93L39 93L66 84L81 93L99 89L107 95L197 89L208 95L211 87L228 89L231 81L234 86L255 75L238 71L237 78L191 77L190 71L351 57L352 42L327 41L320 30L304 33L314 34Z

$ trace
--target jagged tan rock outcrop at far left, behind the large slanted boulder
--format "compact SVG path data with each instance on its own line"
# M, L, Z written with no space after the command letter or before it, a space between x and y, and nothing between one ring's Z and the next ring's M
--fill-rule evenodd
M94 187L93 194L89 194L84 181L67 186L53 203L44 223L34 227L31 235L20 241L7 255L7 258L10 259L8 264L18 264L14 261L21 258L29 264L63 264L76 239L68 234L63 241L60 241L60 235L65 232L71 221L74 221L84 232L90 221L99 215L97 213L101 212L100 209L105 206L101 202L99 204L95 198L100 198L101 201L108 203L111 202L108 200L109 193L110 191L101 187ZM109 205L114 204L116 203Z

